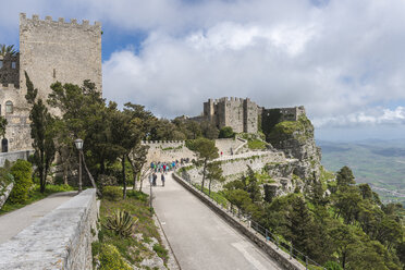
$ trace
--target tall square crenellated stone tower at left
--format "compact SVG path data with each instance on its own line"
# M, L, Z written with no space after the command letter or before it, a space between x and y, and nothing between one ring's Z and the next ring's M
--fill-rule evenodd
M101 24L76 20L44 21L20 14L20 85L28 73L39 97L47 99L52 83L82 85L90 79L101 91ZM24 98L22 96L22 98Z

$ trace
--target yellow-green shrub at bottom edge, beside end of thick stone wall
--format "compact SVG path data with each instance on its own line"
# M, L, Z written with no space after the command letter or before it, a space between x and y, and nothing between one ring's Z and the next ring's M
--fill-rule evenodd
M102 244L100 248L100 270L131 270L113 245Z

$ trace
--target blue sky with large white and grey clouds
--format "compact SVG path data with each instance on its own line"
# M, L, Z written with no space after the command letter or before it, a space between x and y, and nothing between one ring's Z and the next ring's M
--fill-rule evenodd
M320 139L405 137L405 1L0 2L0 44L19 44L20 12L100 21L109 100L173 118L250 97L304 105Z

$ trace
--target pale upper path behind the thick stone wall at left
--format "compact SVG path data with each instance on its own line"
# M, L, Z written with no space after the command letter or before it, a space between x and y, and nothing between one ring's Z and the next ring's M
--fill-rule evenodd
M0 244L9 241L76 194L77 192L52 194L35 204L0 216Z

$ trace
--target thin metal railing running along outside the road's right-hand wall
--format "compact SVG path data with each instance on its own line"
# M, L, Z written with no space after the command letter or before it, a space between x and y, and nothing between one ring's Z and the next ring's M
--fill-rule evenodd
M184 181L184 183L187 183L189 186L192 186L195 191L197 191L201 196L205 196L207 199L209 199L211 202L217 205L217 207L221 208L223 211L226 211L230 213L233 218L237 219L241 223L244 223L245 226L251 229L255 233L260 234L266 242L271 242L277 246L277 249L281 249L290 255L290 259L296 259L299 261L303 266L305 266L305 269L307 270L320 270L324 269L322 266L320 266L315 260L310 259L307 255L299 251L298 249L294 248L293 245L284 240L284 237L279 236L272 232L270 232L267 228L263 228L258 222L253 220L250 217L243 213L243 211L237 208L236 206L232 205L230 201L226 201L226 205L224 206L222 201L218 201L214 199L214 197L209 196L207 193L201 192L200 188L197 188L196 185L194 185L189 180L185 181L180 175L176 175L179 179Z

